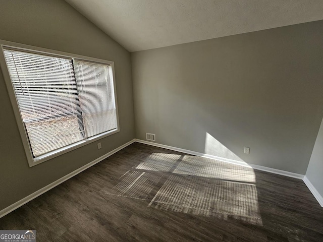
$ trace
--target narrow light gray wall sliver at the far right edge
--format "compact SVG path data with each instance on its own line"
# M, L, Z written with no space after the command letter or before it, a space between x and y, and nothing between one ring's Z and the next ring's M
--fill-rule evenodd
M323 197L323 120L308 164L306 177Z

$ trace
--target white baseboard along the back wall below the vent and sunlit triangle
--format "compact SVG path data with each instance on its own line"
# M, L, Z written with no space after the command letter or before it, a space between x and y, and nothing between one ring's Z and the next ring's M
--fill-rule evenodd
M190 155L196 155L196 156L206 157L206 158L210 158L210 159L214 159L214 160L220 160L220 161L228 162L228 163L231 163L231 164L252 167L253 169L256 169L256 170L262 170L262 171L266 171L266 172L270 172L270 173L274 173L274 174L285 175L285 176L289 176L289 177L293 177L293 178L297 178L297 179L303 179L304 178L304 175L298 174L298 173L293 173L293 172L289 172L289 171L285 171L285 170L274 169L274 168L261 166L261 165L250 164L250 163L246 163L246 162L243 162L243 161L227 159L227 158L224 158L224 157L218 157L218 156L214 156L214 155L203 154L203 153L199 153L199 152L195 152L195 151L191 151L191 150L185 150L185 149L182 149L182 148L177 148L177 147L173 147L173 146L169 146L169 145L163 145L163 144L158 144L158 143L145 141L145 140L139 140L139 139L135 139L135 142L146 144L146 145L152 145L152 146L156 146L156 147L160 147L160 148L164 148L164 149L168 149L168 150L174 150L174 151L178 151L178 152L183 152L183 153L187 153L187 154L190 154Z

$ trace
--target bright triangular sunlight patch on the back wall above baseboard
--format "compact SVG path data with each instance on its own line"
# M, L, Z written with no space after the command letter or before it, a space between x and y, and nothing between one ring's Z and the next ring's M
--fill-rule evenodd
M243 161L235 153L221 144L216 138L206 133L204 153L208 155L214 155L231 160Z

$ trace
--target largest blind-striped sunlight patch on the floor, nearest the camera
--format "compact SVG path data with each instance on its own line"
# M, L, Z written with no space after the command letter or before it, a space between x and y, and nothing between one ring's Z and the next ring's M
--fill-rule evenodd
M262 225L253 184L171 175L148 206Z

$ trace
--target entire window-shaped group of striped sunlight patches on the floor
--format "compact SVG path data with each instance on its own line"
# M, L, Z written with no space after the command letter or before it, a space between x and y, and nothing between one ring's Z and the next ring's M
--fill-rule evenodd
M148 207L262 225L251 167L190 155L152 153L110 193Z

